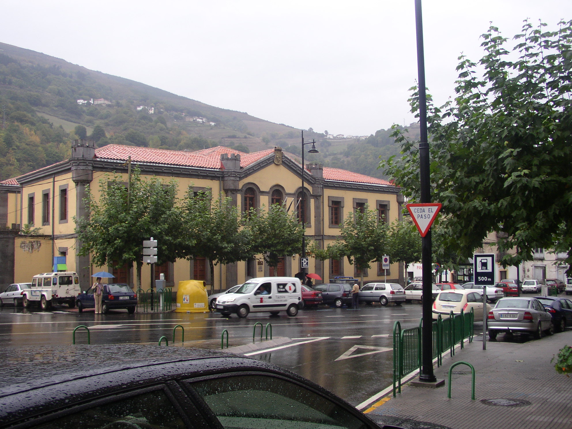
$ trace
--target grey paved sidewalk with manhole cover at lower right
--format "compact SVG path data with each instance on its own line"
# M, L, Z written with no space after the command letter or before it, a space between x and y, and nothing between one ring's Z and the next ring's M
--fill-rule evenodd
M557 374L554 364L550 363L553 355L566 344L572 345L570 330L524 344L487 341L486 350L482 349L481 341L474 341L453 358L447 354L443 366L435 369L436 377L445 380L444 387L433 389L407 384L402 386L401 395L396 398L388 395L368 411L372 417L394 416L452 429L570 429L572 378ZM465 365L453 369L452 398L447 399L448 370L459 361L475 367L476 400L471 400L471 370ZM482 402L487 399L524 400L530 405L492 406ZM387 418L387 424L397 421Z

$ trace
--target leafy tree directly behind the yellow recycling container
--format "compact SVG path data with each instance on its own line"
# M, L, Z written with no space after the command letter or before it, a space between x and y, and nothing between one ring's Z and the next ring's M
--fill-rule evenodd
M249 256L249 231L241 229L239 209L222 194L212 201L210 190L189 189L182 204L185 225L181 245L186 258L205 257L210 266L210 293L215 291L215 265L231 264Z

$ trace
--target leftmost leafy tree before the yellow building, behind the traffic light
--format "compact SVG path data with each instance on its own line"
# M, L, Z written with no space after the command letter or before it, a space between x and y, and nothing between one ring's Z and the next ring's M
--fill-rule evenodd
M109 185L112 182L112 185ZM88 189L85 198L89 217L76 219L76 233L83 243L79 254L91 255L94 265L137 266L141 286L142 243L158 241L158 264L182 257L182 217L177 204L177 184L156 177L145 180L134 169L129 190L119 175L100 180L99 196ZM189 245L188 237L185 241Z

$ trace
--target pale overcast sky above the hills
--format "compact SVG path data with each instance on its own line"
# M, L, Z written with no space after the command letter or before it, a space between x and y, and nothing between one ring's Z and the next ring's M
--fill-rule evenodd
M459 54L480 58L489 22L512 37L526 18L553 29L572 1L425 0L436 104L454 94ZM414 0L3 0L0 41L296 128L414 121Z

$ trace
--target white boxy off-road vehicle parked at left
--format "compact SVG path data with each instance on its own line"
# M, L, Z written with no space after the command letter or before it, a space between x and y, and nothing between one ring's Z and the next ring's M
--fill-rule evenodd
M75 272L42 273L32 279L30 289L22 294L22 305L29 308L31 303L39 303L42 310L52 304L67 304L75 307L76 297L80 295L80 277Z

